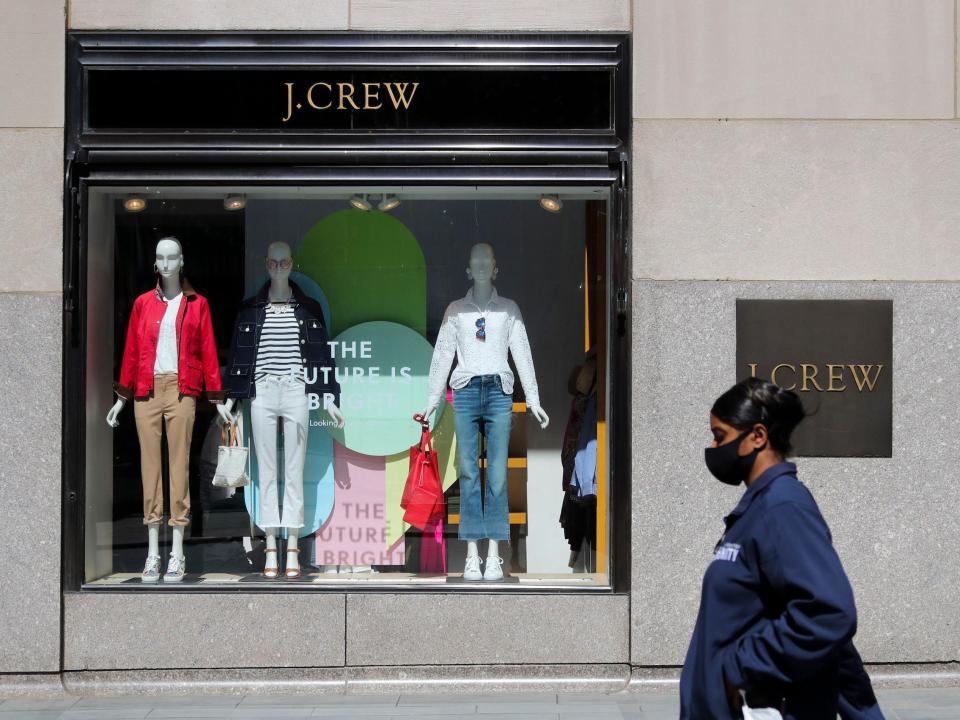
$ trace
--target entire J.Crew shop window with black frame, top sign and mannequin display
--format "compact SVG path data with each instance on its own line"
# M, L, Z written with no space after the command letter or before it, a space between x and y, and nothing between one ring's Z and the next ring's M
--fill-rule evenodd
M68 591L629 590L629 36L66 56Z

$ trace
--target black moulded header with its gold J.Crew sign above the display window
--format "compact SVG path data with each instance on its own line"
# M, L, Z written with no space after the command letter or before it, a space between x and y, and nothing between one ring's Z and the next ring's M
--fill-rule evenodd
M360 150L362 163L379 151L403 163L442 148L461 163L497 150L609 165L629 146L629 58L625 34L70 33L66 152L169 164ZM409 108L391 107L398 83ZM331 107L309 107L311 88ZM165 152L136 152L148 149Z

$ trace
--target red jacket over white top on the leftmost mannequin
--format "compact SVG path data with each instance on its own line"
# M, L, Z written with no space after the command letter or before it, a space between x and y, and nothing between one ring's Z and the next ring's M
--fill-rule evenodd
M120 381L113 389L120 397L149 397L153 393L153 367L157 359L160 321L167 310L160 288L145 292L133 303L127 343L123 348ZM177 314L177 375L181 395L197 397L206 390L207 398L223 402L220 389L220 364L206 298L186 285Z

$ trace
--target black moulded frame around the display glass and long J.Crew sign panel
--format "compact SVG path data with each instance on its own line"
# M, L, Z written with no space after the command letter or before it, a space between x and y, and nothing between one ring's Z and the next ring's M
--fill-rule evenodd
M173 139L138 133L130 137L103 135L84 131L86 98L83 91L85 50L95 46L98 39L110 38L122 52L110 56L110 62L136 64L136 53L123 50L127 45L154 42L179 42L184 52L195 47L209 35L190 33L153 33L139 37L123 33L74 33L68 38L68 115L66 167L64 178L64 286L63 286L63 519L62 519L62 577L66 592L444 592L468 593L482 590L498 594L624 594L631 584L631 388L632 388L632 309L631 309L631 239L629 234L629 37L625 35L498 35L481 36L481 45L489 44L497 52L480 52L469 59L470 66L502 62L500 50L508 47L519 62L542 62L543 51L538 44L546 43L564 58L575 58L578 63L590 62L584 44L599 44L605 50L598 66L613 63L612 93L615 114L611 133L572 132L531 134L516 133L496 138L471 133L438 134L414 132L405 136L401 148L396 147L396 135L384 134L347 138L353 144L356 163L346 164L340 145L342 134L291 133L288 138L274 137L265 145L263 138L254 138L246 145L234 142L224 145L223 138L211 134L193 142L182 155L172 157L169 152ZM224 36L219 36L224 37ZM249 34L238 35L248 38ZM291 36L272 34L260 36L282 38ZM384 38L395 40L397 47L381 59L389 64L402 58L404 63L424 62L431 49L478 36L436 35L415 36L417 46L404 47L411 36L371 35L310 35L304 43L316 45L333 40L341 42L337 52L348 52L364 47L365 43L382 44ZM587 42L589 40L589 42ZM579 50L578 50L579 48ZM584 59L584 56L587 58ZM97 53L92 56L99 57ZM611 59L612 58L612 59ZM103 58L100 61L106 62ZM292 140L292 143L287 143ZM269 142L276 143L271 146ZM291 147L293 145L293 147ZM334 146L337 149L334 149ZM609 447L608 525L607 549L608 586L600 588L519 587L491 590L488 588L456 585L418 586L402 582L378 582L375 587L357 587L355 584L242 587L191 586L164 588L133 586L89 586L84 579L84 523L86 478L85 468L85 388L86 388L86 313L87 313L87 202L90 189L117 185L553 185L605 186L609 190L610 276L607 282L607 363L608 406L607 441ZM348 589L349 588L349 589Z

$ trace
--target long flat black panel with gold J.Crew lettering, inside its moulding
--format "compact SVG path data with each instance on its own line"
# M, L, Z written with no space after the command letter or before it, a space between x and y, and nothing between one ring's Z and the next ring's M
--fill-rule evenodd
M96 68L95 131L609 130L613 76L552 68Z

